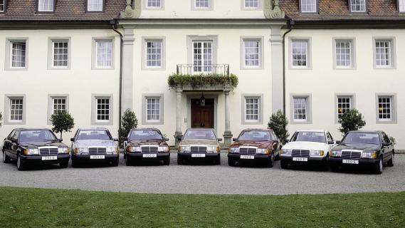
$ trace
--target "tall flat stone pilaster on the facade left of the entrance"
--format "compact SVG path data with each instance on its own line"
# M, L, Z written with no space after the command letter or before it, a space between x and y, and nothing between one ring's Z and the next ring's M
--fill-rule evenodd
M122 36L122 113L132 110L134 73L134 28L124 26Z

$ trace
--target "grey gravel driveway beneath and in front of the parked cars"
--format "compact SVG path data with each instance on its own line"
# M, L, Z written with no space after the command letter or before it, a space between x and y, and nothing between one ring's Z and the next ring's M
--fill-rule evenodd
M16 164L0 164L0 185L71 190L184 194L325 194L352 192L405 191L405 155L396 155L394 167L384 167L382 175L364 170L327 172L314 168L281 170L275 167L228 167L226 153L221 166L147 164L127 167L121 157L119 167L60 169L48 165L24 172Z

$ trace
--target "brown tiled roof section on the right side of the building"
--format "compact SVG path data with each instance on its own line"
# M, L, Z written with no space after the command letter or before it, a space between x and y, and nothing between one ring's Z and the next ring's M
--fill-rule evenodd
M319 0L318 14L301 14L300 0L280 0L285 15L295 21L342 21L342 20L405 20L399 13L396 0L367 0L366 13L351 13L350 0Z

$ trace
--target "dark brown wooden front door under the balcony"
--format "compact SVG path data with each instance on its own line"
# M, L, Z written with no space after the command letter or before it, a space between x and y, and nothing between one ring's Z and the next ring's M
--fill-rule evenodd
M191 128L214 128L214 99L206 99L204 106L191 99Z

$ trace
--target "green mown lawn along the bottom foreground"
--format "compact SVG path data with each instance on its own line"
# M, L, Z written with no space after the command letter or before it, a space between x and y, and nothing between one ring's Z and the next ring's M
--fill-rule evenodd
M256 196L0 191L0 227L405 226L405 192Z

